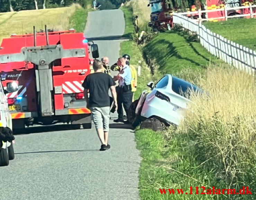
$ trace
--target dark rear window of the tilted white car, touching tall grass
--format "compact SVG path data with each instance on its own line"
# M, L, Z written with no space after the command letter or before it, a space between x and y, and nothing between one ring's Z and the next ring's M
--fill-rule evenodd
M181 96L184 96L186 98L187 97L189 98L191 91L195 91L197 93L203 92L201 88L196 87L195 85L188 83L185 80L182 80L182 79L174 77L174 76L172 77L171 89L175 93L177 93ZM188 96L186 96L186 95L188 95Z

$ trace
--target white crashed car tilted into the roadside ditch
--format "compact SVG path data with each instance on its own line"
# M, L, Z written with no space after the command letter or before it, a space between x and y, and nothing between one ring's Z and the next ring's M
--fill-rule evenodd
M147 84L149 90L144 90L140 98L135 100L129 108L127 119L133 127L145 119L156 118L166 126L179 125L188 103L191 101L184 93L191 90L203 92L202 89L183 79L166 75L154 86Z

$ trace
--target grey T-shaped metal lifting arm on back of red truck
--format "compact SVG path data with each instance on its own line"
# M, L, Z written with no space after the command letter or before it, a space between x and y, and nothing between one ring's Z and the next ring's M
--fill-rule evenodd
M36 88L40 93L41 116L52 116L53 83L50 63L56 59L69 57L84 57L85 49L63 49L61 45L46 45L26 47L19 54L0 55L0 64L27 61L36 67Z

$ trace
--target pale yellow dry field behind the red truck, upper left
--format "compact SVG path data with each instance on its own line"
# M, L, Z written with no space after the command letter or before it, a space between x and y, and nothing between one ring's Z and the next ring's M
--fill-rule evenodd
M33 26L37 31L44 30L44 25L54 30L68 29L69 18L79 8L81 8L79 4L72 4L72 6L64 8L3 13L0 15L0 44L3 38L10 37L11 34L33 33Z

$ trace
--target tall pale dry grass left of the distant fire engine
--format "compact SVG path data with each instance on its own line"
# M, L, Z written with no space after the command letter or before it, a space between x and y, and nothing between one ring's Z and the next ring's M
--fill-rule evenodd
M133 8L133 15L138 16L138 26L144 27L150 22L150 7L147 7L148 0L131 0L127 5L131 5Z

